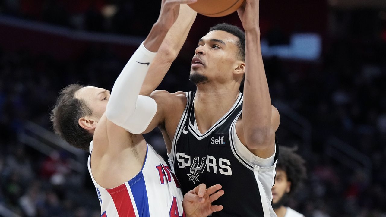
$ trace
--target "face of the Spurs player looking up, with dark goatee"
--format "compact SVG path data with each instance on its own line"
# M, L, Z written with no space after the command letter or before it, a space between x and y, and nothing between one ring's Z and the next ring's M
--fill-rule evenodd
M234 79L233 71L242 61L238 58L239 39L225 31L211 31L198 42L190 74L206 76L220 83Z

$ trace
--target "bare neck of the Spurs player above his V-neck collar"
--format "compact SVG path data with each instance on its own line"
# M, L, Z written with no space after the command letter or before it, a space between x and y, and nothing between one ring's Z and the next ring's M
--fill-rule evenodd
M209 86L209 85L203 85ZM205 133L232 108L239 97L238 88L197 86L194 112L198 130Z

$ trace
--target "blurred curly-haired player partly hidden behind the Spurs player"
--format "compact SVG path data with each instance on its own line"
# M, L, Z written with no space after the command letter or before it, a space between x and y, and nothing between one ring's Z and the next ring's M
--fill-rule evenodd
M284 206L291 193L295 192L306 178L304 164L304 159L295 153L295 149L280 146L275 185L272 187L272 207L278 217L304 217L295 210Z

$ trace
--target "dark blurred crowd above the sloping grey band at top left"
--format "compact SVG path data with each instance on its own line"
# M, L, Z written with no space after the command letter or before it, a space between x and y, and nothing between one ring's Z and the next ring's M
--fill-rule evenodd
M152 0L2 0L3 14L93 32L147 35L161 3ZM149 7L151 6L151 7ZM138 8L144 8L138 10ZM137 9L137 10L136 10ZM142 19L147 17L148 19ZM127 22L130 20L130 22Z

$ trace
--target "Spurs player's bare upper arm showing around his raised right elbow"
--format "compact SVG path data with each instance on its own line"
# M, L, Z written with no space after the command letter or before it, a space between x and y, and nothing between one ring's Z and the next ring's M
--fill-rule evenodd
M249 143L247 144L247 141L244 136L244 129L242 122L245 121L240 117L240 119L236 123L236 133L239 137L240 141L244 146L246 146L249 151L251 151L253 154L260 158L269 158L272 156L272 154L275 151L275 136L276 136L276 130L279 127L280 124L280 115L277 108L275 108L273 105L271 105L271 127L269 129L269 134L267 136L267 139L264 140L261 144L257 146L257 144Z

